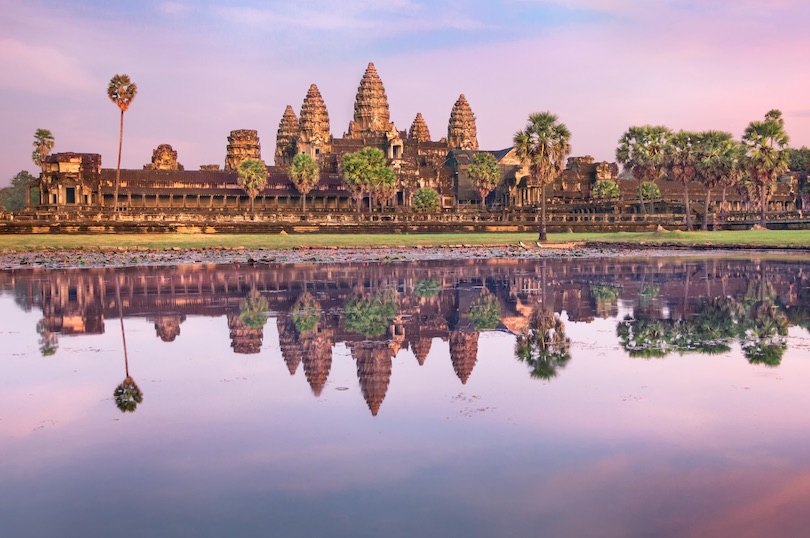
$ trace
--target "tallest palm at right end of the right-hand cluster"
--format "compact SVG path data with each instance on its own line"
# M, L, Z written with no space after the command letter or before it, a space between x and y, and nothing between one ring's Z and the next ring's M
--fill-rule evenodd
M787 152L790 138L785 132L782 112L771 110L764 121L752 121L743 134L745 165L751 175L757 200L760 203L759 224L767 225L766 212L771 195L771 186L780 174L788 169L790 154Z

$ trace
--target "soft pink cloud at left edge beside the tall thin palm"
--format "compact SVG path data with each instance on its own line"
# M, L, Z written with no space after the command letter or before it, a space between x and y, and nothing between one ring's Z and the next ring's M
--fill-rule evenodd
M64 97L88 94L99 82L82 63L48 46L29 45L14 38L0 39L0 89Z

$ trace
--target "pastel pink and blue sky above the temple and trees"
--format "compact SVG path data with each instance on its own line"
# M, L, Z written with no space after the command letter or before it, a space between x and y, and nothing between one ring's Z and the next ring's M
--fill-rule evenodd
M186 169L224 165L235 129L258 130L270 164L284 108L298 114L312 83L340 137L368 62L400 130L421 112L446 136L463 93L481 149L511 146L546 110L572 155L597 160L615 160L631 125L740 137L773 108L791 146L810 146L806 0L0 0L0 13L0 186L35 172L38 128L54 152L114 168L106 89L122 73L138 86L123 168L164 143Z

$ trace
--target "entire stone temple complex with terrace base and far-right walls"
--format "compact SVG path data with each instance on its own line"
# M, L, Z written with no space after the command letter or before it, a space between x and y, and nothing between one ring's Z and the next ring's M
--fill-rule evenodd
M377 68L369 63L357 87L352 120L341 137L332 134L326 100L316 84L307 90L297 116L292 105L285 107L276 132L273 164L263 161L267 163L268 179L255 199L255 215L251 218L278 221L283 217L299 223L330 219L332 223L349 222L358 205L352 198L355 193L340 175L340 162L345 154L368 147L383 152L396 176L390 196L387 193L384 199L375 199L377 211L392 215L391 219L412 215L413 195L425 187L439 194L437 213L443 215L445 223L461 219L454 215L464 214L466 209L480 211L486 206L490 210L487 217L490 221L498 219L501 223L526 225L536 222L536 208L544 195L551 201L552 214L566 214L564 219L557 219L564 222L558 225L563 229L578 228L582 223L592 226L595 221L582 217L590 213L629 215L628 224L618 229L633 229L633 222L638 219L631 214L646 213L638 200L639 181L632 178L617 181L621 191L619 200L593 199L593 188L598 181L618 179L619 169L615 163L595 162L590 156L570 157L565 171L551 185L542 187L532 181L528 167L517 157L514 148L480 149L476 117L463 94L450 107L446 137L432 139L420 112L416 112L408 130L400 130L391 120L388 95ZM468 169L475 155L485 151L495 157L501 177L497 187L482 200ZM290 179L290 165L299 153L312 157L320 169L319 182L306 195L306 213L300 210L302 195ZM142 170L121 170L120 188L116 189L116 170L102 168L98 154L47 155L39 179L29 185L29 214L18 220L103 221L115 209L122 219L133 222L235 222L244 219L251 205L248 195L239 186L237 169L246 158L262 160L258 131L231 131L224 157L224 166L205 164L199 170L187 170L179 164L178 152L171 145L160 144L153 151L151 162ZM680 213L675 222L682 221L683 187L678 182L663 179L658 183L660 207L655 212ZM31 207L30 194L34 188L40 191L40 202ZM706 192L698 183L690 184L689 190L693 200L704 197ZM117 201L113 199L116 192ZM797 193L797 182L778 183L771 198L771 209L795 210ZM729 211L745 209L748 202L739 194L727 194L724 200ZM359 205L370 207L371 196L367 194ZM714 193L713 199L717 210L720 193ZM703 211L701 204L692 205L692 211ZM551 220L553 225L554 219ZM608 222L607 218L597 220ZM648 220L644 219L647 225Z

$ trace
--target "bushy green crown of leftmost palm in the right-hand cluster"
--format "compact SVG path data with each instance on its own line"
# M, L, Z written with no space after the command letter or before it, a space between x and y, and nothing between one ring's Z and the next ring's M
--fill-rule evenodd
M655 183L666 168L666 148L672 131L663 125L630 127L619 139L616 160L640 182ZM641 210L646 212L644 198Z

